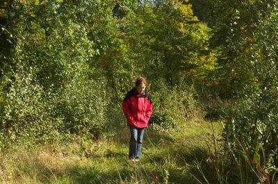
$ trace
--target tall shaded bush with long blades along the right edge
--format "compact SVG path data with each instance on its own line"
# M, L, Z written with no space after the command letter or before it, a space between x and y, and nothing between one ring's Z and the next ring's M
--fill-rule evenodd
M249 58L254 81L245 85L242 101L227 116L224 139L227 153L236 162L242 183L277 183L278 172L278 76L277 8L254 24ZM236 48L236 47L235 47Z

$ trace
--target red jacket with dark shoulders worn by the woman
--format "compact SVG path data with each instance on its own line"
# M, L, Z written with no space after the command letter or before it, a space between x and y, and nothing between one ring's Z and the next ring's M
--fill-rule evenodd
M127 119L127 125L137 128L148 126L152 115L152 100L149 94L138 94L136 89L130 90L122 103L122 111Z

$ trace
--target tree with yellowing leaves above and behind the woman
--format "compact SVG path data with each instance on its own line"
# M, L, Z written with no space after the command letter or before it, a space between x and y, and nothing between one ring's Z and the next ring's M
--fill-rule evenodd
M165 78L174 86L185 74L194 76L201 68L213 68L210 29L193 16L190 4L145 1L124 21L132 57L145 66L142 71L150 78Z

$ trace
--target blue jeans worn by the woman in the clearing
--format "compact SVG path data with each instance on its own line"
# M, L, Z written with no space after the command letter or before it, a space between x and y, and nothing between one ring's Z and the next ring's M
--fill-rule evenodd
M145 128L129 126L131 138L129 141L129 158L140 158Z

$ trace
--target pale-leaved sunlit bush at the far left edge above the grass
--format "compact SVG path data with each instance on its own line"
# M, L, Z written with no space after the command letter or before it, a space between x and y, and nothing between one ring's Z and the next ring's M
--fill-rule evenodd
M61 119L54 115L56 96L45 94L34 78L34 69L24 68L10 81L1 111L1 130L16 140L49 140L58 135Z

